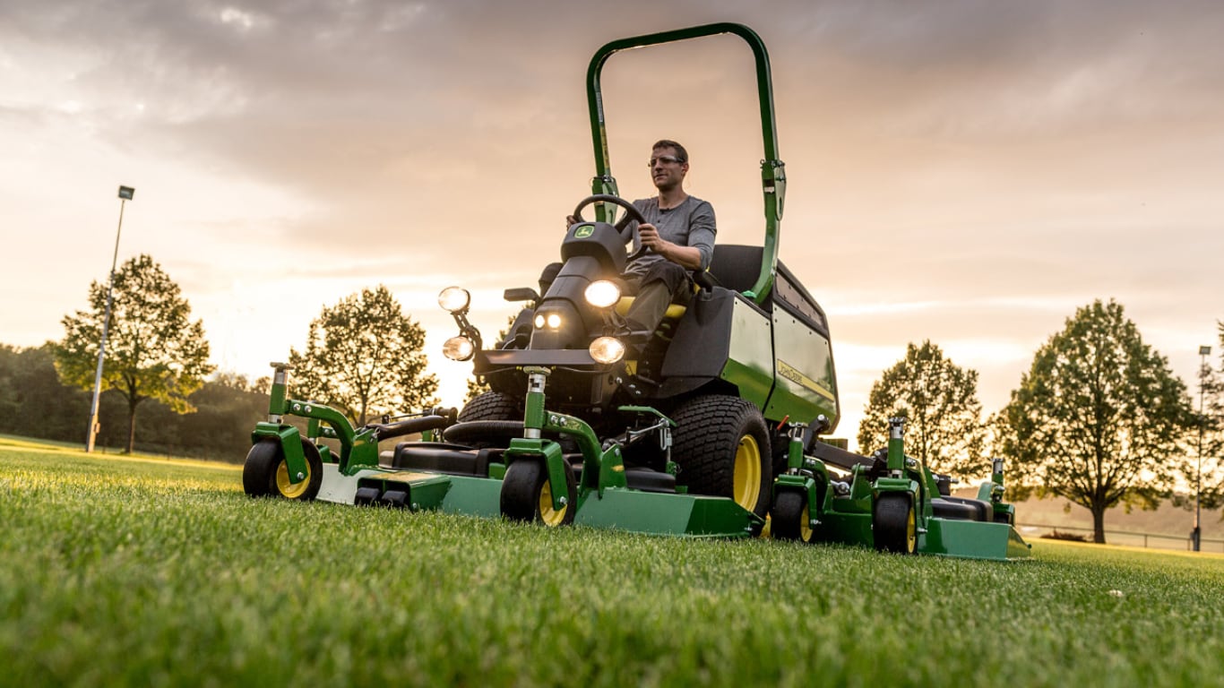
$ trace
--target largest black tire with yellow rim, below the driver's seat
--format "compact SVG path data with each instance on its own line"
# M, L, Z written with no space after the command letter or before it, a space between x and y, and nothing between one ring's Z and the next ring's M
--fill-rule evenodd
M677 482L694 495L730 497L765 518L774 485L769 430L756 406L738 397L711 394L685 402L672 414L672 459Z

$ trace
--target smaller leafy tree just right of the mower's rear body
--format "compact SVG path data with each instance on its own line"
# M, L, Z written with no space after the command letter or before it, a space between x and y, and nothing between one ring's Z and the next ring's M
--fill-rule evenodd
M985 430L977 394L977 371L958 367L929 339L920 346L909 343L906 357L871 386L858 446L862 451L884 447L889 419L905 416L906 454L957 477L989 473L982 455Z

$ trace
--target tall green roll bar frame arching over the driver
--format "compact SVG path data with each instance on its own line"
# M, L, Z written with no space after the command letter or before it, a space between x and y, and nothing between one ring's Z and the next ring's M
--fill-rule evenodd
M743 38L753 50L756 59L756 94L760 100L761 137L764 140L764 157L761 158L761 187L765 196L765 250L761 253L761 271L750 293L758 305L764 304L774 288L774 275L777 271L777 242L782 220L782 206L786 198L786 170L785 163L777 154L777 124L774 119L774 84L770 76L769 53L765 43L756 32L744 24L738 23L712 23L683 28L677 31L665 31L613 40L600 48L591 64L586 69L586 103L591 115L591 141L595 144L595 178L591 180L591 193L617 192L616 179L612 176L612 166L608 160L607 125L603 118L603 95L600 92L600 75L603 64L614 53L633 48L645 48L647 45L661 45L701 38L733 33ZM600 222L611 222L612 211L605 208L602 203L596 206L596 218Z

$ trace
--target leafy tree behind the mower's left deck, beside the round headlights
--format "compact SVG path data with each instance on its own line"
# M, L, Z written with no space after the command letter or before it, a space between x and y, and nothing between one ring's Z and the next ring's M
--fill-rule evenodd
M425 331L386 286L362 289L310 323L306 350L290 349L293 395L317 399L365 425L370 417L437 403L425 375Z

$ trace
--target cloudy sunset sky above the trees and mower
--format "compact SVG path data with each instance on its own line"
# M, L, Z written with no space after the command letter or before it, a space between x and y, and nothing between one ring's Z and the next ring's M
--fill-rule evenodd
M715 21L770 50L781 257L829 312L853 437L931 339L987 411L1075 308L1116 299L1193 387L1224 318L1224 6L1214 0L0 0L0 343L64 334L114 251L149 253L222 368L257 377L324 305L387 285L447 403L438 290L496 332L594 173L603 43ZM718 37L603 72L622 193L661 137L718 240L764 230L750 53Z

